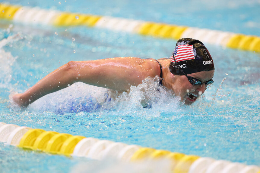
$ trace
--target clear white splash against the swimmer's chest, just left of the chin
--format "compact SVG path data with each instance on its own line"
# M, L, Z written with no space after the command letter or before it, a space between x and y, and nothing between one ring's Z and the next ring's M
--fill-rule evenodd
M147 77L140 85L131 86L129 92L112 97L110 102L104 103L102 109L148 117L160 116L161 112L172 112L172 107L179 105L179 97L174 97L170 90L158 85L159 80L158 76Z

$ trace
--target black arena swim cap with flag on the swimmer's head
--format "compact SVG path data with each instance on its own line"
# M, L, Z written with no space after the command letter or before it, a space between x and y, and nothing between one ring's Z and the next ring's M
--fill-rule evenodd
M208 49L199 40L179 39L171 56L170 72L185 75L214 70L214 63Z

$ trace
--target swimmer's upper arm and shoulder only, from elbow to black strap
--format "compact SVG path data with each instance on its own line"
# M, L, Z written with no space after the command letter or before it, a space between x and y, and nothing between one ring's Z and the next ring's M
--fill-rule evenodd
M131 85L141 84L146 77L160 75L160 66L154 59L121 57L88 62L91 63L78 68L78 81L118 91L128 91Z

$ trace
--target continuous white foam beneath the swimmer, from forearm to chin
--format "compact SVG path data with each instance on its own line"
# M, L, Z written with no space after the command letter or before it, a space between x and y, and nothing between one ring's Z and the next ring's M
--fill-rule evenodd
M84 112L125 112L137 116L160 116L165 110L179 106L179 97L164 86L158 85L159 77L148 77L138 86L131 86L129 92L111 98L106 88L95 87L77 82L68 88L48 94L29 105L30 111L50 111L58 114ZM144 108L142 100L147 100ZM151 109L152 108L152 109Z

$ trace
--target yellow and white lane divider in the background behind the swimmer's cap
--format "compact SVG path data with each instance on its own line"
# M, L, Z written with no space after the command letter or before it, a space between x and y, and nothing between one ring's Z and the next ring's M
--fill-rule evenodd
M76 14L45 10L38 7L21 7L1 3L0 19L13 20L24 24L106 28L114 31L132 32L141 35L175 40L189 37L212 45L260 52L259 36L247 36L233 32L177 26L166 23L154 23L142 20L131 20L91 14Z

